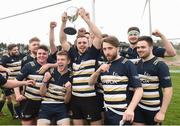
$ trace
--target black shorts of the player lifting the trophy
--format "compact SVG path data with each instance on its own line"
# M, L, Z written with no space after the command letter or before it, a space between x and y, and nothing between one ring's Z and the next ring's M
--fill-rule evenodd
M97 97L72 96L71 110L73 119L86 119L90 122L101 119L101 111L98 106Z

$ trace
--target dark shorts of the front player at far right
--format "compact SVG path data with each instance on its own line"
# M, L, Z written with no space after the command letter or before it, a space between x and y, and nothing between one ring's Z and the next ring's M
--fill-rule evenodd
M139 106L135 109L134 122L144 123L145 125L157 125L154 121L154 117L158 111L145 110Z

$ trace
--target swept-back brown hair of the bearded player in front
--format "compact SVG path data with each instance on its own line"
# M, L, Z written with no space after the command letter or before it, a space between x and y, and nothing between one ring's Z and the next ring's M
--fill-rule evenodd
M113 45L114 47L120 47L120 42L119 42L119 40L115 36L104 37L102 39L102 44L104 42L109 43L109 44Z

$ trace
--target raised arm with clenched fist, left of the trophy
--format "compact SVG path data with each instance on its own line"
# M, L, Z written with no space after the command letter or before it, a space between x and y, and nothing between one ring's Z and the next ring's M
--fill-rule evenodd
M50 22L50 30L49 30L49 44L51 54L54 54L57 51L57 47L55 45L55 36L54 36L54 28L57 26L56 22Z

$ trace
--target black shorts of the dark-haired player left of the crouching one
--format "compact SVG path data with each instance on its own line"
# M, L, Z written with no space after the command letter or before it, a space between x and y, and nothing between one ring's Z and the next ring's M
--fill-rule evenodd
M38 117L41 101L26 99L21 102L22 120L31 120Z

